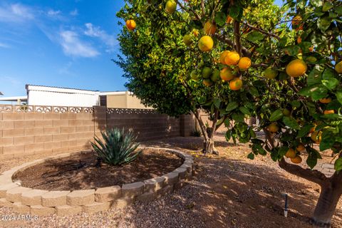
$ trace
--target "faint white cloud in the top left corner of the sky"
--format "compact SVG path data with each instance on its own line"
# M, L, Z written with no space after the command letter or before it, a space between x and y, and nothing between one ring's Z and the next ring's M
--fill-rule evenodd
M22 4L0 6L0 21L24 22L34 19L33 9Z

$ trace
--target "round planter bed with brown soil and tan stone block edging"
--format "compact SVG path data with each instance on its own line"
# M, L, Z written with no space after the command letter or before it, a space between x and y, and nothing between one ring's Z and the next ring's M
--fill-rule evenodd
M95 167L91 151L28 162L0 175L0 204L37 215L98 212L155 199L192 177L192 156L166 148L143 150L122 167Z

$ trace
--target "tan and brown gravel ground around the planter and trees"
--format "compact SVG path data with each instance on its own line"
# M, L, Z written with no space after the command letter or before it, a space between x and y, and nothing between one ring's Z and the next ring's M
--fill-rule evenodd
M219 156L203 156L201 138L143 143L176 147L195 157L197 175L172 195L124 209L35 221L1 221L1 216L16 213L0 207L0 227L311 227L318 185L287 174L269 157L248 160L248 145L233 145L222 136L215 141ZM1 161L0 172L40 156ZM282 215L282 193L289 194L288 218ZM333 227L342 227L341 207L340 200Z

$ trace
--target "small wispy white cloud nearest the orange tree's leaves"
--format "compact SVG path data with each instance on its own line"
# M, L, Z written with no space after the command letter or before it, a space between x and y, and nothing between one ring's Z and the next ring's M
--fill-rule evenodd
M118 40L114 37L106 33L105 31L101 30L100 27L93 26L91 23L85 24L87 30L84 33L90 37L97 37L100 38L103 43L108 46L108 51L114 51L115 47L118 46Z

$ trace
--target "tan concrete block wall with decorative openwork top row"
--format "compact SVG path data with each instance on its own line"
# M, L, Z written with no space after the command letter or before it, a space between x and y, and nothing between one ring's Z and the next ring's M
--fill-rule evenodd
M46 113L37 111L42 107ZM171 118L155 110L107 109L103 106L28 108L29 112L23 112L0 105L0 159L87 150L94 136L100 136L106 128L133 128L138 140L189 136L195 128L192 115ZM59 113L61 110L63 113Z

